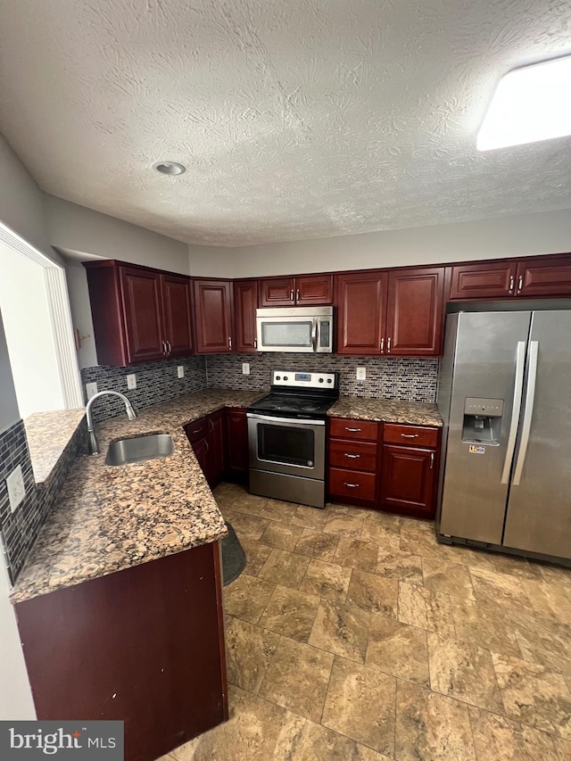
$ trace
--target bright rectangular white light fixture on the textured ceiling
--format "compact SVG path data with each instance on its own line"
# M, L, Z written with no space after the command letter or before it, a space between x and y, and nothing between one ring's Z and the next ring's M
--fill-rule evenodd
M478 151L571 135L571 55L509 71L478 132Z

